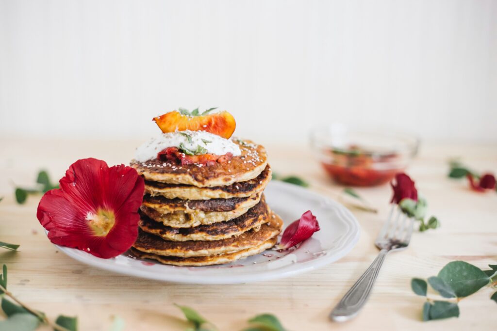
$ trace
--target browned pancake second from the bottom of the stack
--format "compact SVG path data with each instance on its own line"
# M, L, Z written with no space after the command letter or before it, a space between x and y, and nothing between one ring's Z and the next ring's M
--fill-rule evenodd
M252 229L237 237L214 241L166 241L140 229L133 247L145 253L180 258L230 254L261 245L276 237L282 226L281 218L271 213L269 222L263 224L259 231Z

